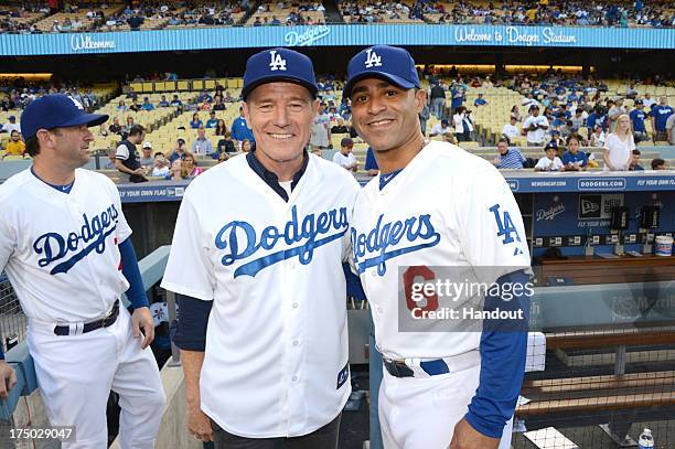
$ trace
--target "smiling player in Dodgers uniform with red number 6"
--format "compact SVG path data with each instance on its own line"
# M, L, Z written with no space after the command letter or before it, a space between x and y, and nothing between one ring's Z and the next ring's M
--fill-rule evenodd
M488 161L425 140L418 113L426 95L407 51L364 50L350 61L347 77L343 95L354 127L381 168L356 199L351 234L353 266L385 360L384 446L508 448L525 368L527 301L511 302L524 309L516 331L401 332L399 313L417 303L398 298L404 279L433 280L428 267L468 267L486 285L526 284L529 254L513 194ZM410 267L400 279L399 267ZM438 298L426 300L425 309L435 311Z

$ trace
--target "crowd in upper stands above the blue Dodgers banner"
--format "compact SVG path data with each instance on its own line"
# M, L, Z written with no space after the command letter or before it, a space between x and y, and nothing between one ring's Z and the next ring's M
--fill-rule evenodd
M99 6L88 3L86 14L76 3L65 3L62 11L73 13L65 20L55 20L51 29L34 25L38 19L51 11L45 2L24 1L22 7L0 7L0 32L77 32L161 29L165 26L208 25L223 26L240 23L245 13L260 17L248 22L260 25L303 25L323 23L312 20L309 12L323 12L325 6L317 2L262 2L257 10L250 11L249 0L231 2L139 2L135 8L125 7L107 17L104 2ZM344 21L349 23L376 22L429 22L454 24L516 24L516 25L576 25L576 26L675 26L675 9L667 2L646 3L611 1L532 1L505 0L485 2L457 1L432 2L415 0L411 2L385 1L340 1L336 0ZM645 4L646 3L646 4ZM283 17L268 17L270 4L276 10L289 10ZM79 14L78 14L79 13ZM143 24L147 24L143 26ZM150 25L148 25L148 23Z

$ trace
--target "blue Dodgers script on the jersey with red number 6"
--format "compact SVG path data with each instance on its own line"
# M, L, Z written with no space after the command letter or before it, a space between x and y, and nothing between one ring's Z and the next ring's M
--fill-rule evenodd
M356 228L352 228L354 264L360 275L367 268L377 266L377 274L384 276L387 272L388 259L430 248L440 242L440 234L433 228L429 214L384 224L383 220L384 214L381 214L375 227L367 233L358 233ZM410 245L387 250L398 245L404 237ZM366 254L377 254L377 256L364 258Z

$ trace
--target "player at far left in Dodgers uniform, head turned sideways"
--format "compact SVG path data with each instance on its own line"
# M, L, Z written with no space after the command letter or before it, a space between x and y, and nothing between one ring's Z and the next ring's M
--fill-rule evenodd
M108 116L52 94L21 116L30 169L0 185L0 270L28 317L28 346L52 426L74 426L64 448L105 448L106 406L119 394L121 448L153 448L164 406L154 338L119 192L83 170ZM122 292L133 313L120 304ZM0 368L7 372L7 363Z

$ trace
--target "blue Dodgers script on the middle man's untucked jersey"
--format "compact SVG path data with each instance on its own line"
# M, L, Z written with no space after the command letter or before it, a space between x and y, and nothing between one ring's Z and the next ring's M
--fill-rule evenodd
M243 275L255 277L270 265L296 256L302 265L308 265L312 261L314 249L342 237L347 226L346 207L322 212L319 216L308 214L300 221L298 211L293 206L291 209L291 220L286 223L282 229L270 225L258 235L250 223L234 221L218 231L215 236L215 246L218 249L229 248L229 253L222 257L221 263L224 266L231 266L237 260L254 256L260 249L274 249L279 242L283 242L286 245L301 243L299 246L280 249L248 261L237 267L234 274L235 278ZM328 235L331 232L333 234ZM325 237L321 237L324 235Z

